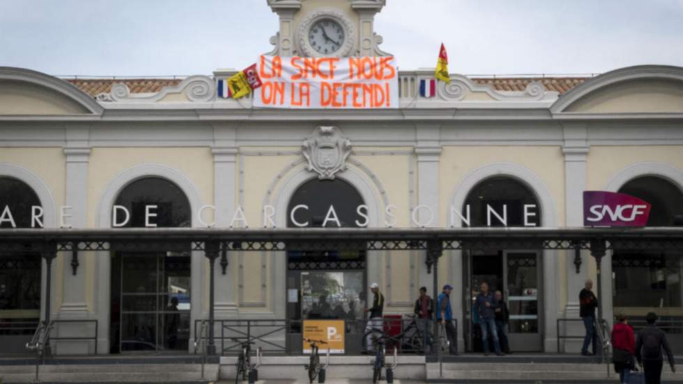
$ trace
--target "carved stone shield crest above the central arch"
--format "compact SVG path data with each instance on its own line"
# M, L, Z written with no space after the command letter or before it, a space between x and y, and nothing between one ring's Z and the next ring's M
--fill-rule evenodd
M320 126L304 140L301 153L308 160L309 171L315 171L320 179L331 180L337 172L346 169L351 141L337 127Z

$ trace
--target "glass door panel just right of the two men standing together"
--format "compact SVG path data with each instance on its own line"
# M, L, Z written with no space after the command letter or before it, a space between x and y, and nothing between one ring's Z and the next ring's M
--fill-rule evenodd
M505 251L505 291L512 351L542 351L540 252Z

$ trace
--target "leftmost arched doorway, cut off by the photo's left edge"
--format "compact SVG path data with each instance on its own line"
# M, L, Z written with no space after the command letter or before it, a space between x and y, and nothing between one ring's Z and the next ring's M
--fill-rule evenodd
M34 206L42 205L29 185L0 176L0 230L31 228ZM0 353L23 353L38 326L41 266L38 253L0 255Z

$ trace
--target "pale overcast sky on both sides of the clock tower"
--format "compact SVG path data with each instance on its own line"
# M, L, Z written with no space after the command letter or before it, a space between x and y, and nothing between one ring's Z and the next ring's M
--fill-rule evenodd
M50 75L210 75L270 50L266 0L0 0L0 66ZM585 74L683 66L683 0L387 0L381 47L401 69Z

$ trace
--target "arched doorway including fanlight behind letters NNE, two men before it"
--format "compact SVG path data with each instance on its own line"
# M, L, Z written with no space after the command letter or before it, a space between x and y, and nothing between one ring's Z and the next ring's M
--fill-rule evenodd
M465 227L542 225L535 193L521 181L507 176L486 178L475 185L461 207L461 216ZM500 291L507 302L510 349L543 350L541 261L541 252L536 249L463 251L463 312L468 351L483 349L479 319L473 306L482 282L489 285L489 291Z

